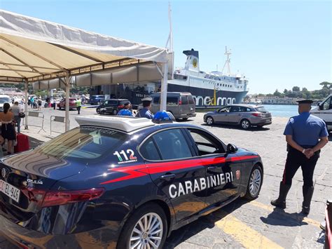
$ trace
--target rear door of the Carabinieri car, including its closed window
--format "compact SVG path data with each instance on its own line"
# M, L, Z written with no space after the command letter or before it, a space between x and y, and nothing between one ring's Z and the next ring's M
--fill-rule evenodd
M205 208L205 166L192 159L188 135L181 128L160 130L139 147L151 179L167 196L177 214L186 220Z

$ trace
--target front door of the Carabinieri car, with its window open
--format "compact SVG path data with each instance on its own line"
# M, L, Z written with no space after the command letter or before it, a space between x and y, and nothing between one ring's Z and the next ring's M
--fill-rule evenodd
M195 144L195 151L205 165L207 174L207 206L223 203L236 196L241 179L240 165L233 166L228 161L226 146L214 135L198 128L187 128Z

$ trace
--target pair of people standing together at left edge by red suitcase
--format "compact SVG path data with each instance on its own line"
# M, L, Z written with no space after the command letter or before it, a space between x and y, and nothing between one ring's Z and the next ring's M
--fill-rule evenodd
M13 153L13 142L16 140L16 133L20 133L21 115L22 109L18 102L14 102L13 107L9 103L5 103L4 112L0 112L0 144L3 145L5 140L7 140L6 150L8 155ZM17 131L15 127L17 127Z

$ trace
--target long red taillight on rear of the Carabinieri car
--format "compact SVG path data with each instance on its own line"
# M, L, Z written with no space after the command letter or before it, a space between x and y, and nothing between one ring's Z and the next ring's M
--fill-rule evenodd
M41 189L27 188L22 192L41 207L60 206L79 201L91 201L104 194L104 188L85 189L85 190L57 190L45 191Z

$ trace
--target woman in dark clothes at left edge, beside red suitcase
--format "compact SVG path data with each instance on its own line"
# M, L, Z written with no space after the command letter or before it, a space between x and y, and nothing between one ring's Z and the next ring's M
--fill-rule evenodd
M5 140L8 140L8 155L12 154L13 140L16 139L15 128L13 125L14 114L9 111L10 108L11 105L5 103L4 112L0 112L1 136L4 137Z

